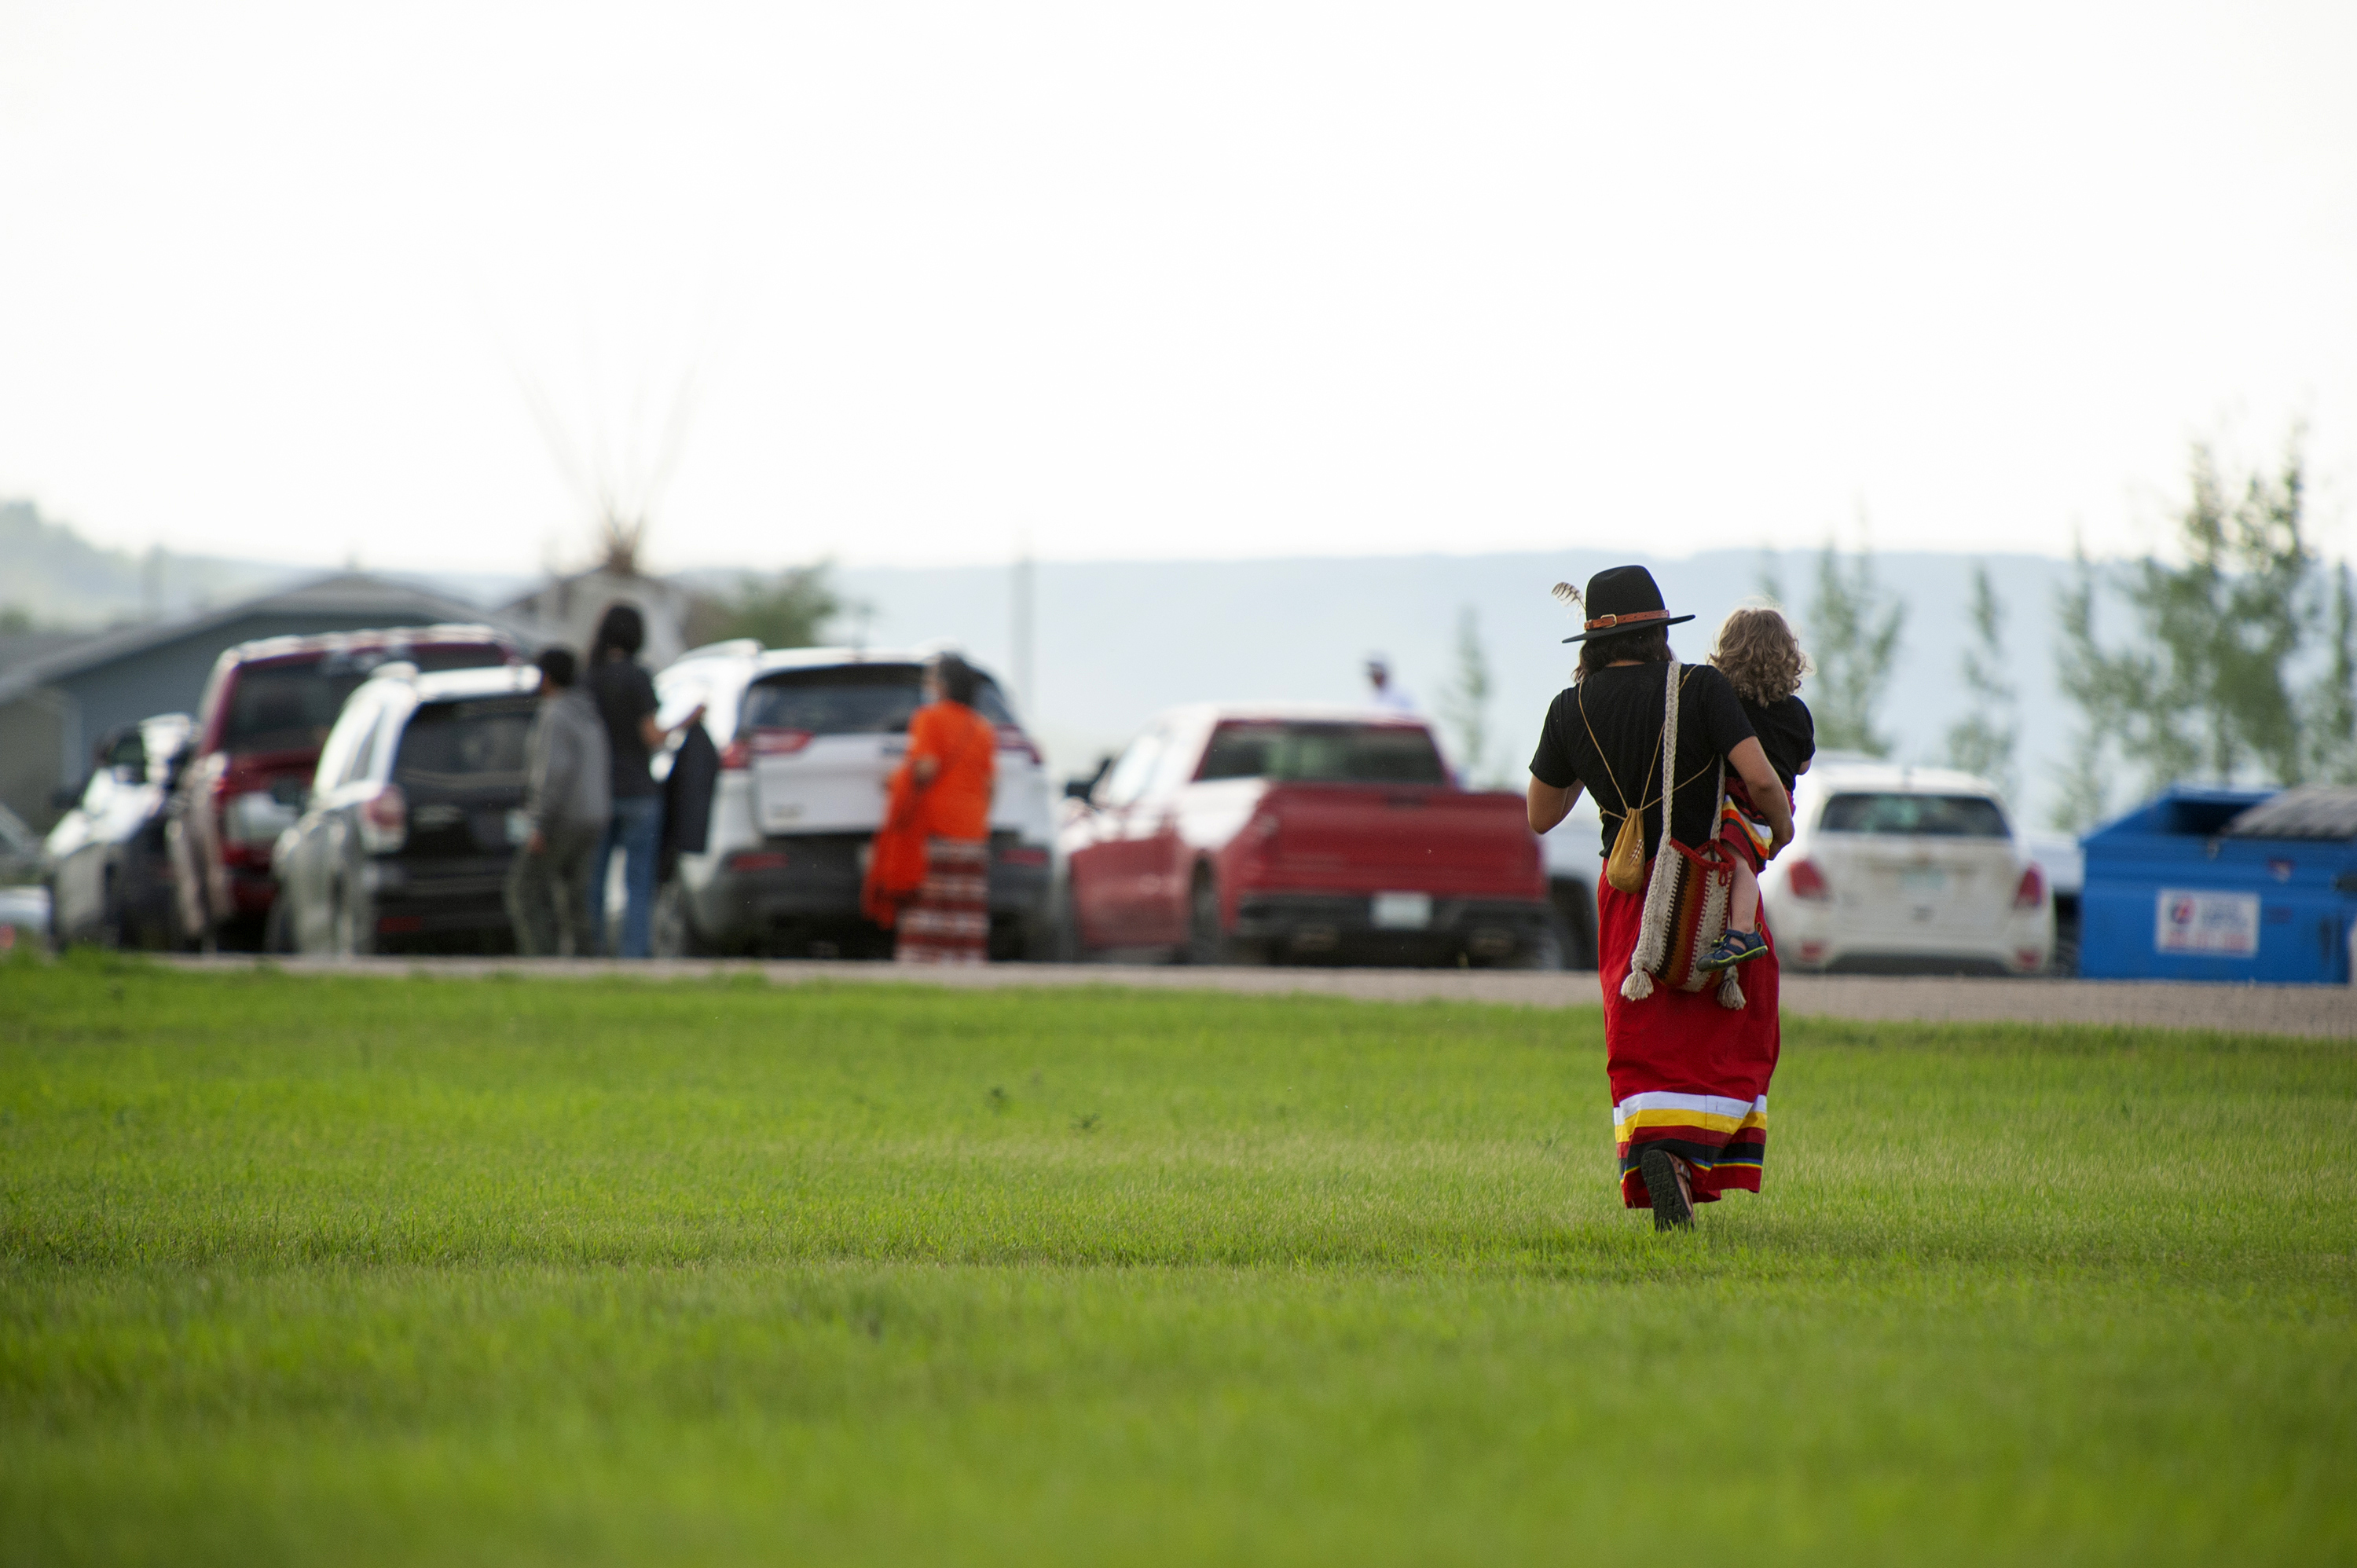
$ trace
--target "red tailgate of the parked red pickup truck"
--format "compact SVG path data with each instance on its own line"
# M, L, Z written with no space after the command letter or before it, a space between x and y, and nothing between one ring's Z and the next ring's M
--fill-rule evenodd
M1518 795L1445 785L1270 785L1249 882L1261 889L1544 898Z

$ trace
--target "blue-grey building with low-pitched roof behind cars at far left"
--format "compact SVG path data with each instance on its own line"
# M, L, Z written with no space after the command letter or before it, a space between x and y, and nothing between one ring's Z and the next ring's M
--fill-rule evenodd
M35 830L80 783L99 736L160 712L196 712L224 648L257 637L478 622L530 646L540 627L370 573L330 573L179 620L78 637L0 667L0 804Z

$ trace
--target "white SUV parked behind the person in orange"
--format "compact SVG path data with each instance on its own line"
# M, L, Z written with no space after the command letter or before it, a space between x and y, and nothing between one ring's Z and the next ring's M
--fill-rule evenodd
M681 854L655 898L655 953L853 957L891 950L860 917L867 844L884 821L884 780L907 750L931 648L787 648L724 641L655 677L660 717L698 703L721 747L702 854ZM988 672L973 707L997 724L990 799L990 957L1037 957L1049 943L1047 769ZM669 759L655 764L658 773Z

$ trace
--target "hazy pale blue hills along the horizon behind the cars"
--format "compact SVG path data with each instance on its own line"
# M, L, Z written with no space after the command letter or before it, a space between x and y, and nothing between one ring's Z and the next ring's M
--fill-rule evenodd
M1645 559L1643 552L1631 552ZM1483 773L1520 788L1546 703L1570 677L1570 613L1551 582L1586 578L1629 554L1358 556L1282 561L1039 561L1032 613L1032 686L1018 703L1061 771L1087 771L1153 712L1204 698L1351 703L1365 696L1367 653L1391 658L1400 684L1433 712L1457 674L1457 620L1471 606L1490 660L1492 743ZM1907 604L1900 660L1881 726L1900 762L1942 762L1947 729L1966 710L1959 653L1975 561L2008 608L2006 655L2020 689L2022 799L2044 825L2072 710L2053 679L2055 594L2072 566L2048 556L1879 554L1886 589ZM1673 632L1699 660L1711 630L1761 587L1763 568L1805 611L1815 552L1709 552L1650 559L1669 604L1697 620ZM0 611L19 606L42 627L92 627L179 615L309 575L266 561L101 549L26 502L0 502ZM410 575L410 573L394 573ZM726 589L738 573L684 573ZM420 575L443 592L493 604L530 585L511 573ZM870 608L841 637L870 644L952 639L1009 686L1014 571L1009 566L837 568L844 597ZM2117 625L2117 620L2112 622ZM1803 689L1803 696L1805 689ZM2126 792L2126 790L2124 790Z

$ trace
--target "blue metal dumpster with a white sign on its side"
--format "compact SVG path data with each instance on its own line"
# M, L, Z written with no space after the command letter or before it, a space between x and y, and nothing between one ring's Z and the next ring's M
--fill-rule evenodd
M2086 835L2079 974L2350 979L2357 790L2176 788Z

